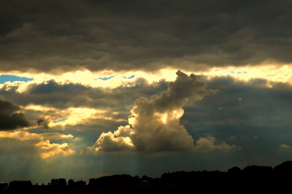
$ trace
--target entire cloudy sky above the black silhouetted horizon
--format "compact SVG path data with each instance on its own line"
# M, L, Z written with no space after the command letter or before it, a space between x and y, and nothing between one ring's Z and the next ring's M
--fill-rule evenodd
M292 1L1 1L0 182L292 159Z

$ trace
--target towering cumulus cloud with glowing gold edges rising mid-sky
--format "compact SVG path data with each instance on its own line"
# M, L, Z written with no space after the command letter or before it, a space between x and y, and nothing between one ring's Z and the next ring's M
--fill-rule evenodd
M89 149L95 151L137 150L147 152L159 151L193 151L208 152L214 149L230 151L235 145L224 142L215 145L215 138L208 135L196 141L180 125L184 110L183 105L189 98L201 100L206 95L214 94L216 90L207 89L205 82L194 74L176 72L177 78L169 82L168 89L160 96L154 95L150 100L139 98L131 110L129 124L120 126L114 133L102 133L99 139Z

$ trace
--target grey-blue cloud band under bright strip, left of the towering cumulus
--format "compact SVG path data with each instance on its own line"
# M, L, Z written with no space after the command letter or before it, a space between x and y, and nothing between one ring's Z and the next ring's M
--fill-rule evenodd
M105 84L100 83L93 87L90 84L72 83L70 80L63 80L63 82L60 80L58 82L55 80L41 80L34 83L13 82L2 85L0 96L22 106L45 105L57 109L80 106L124 109L125 105L132 104L141 95L151 97L167 87L165 79L149 83L141 77L120 82L120 85L114 88L103 87ZM121 103L116 104L112 99L117 99Z

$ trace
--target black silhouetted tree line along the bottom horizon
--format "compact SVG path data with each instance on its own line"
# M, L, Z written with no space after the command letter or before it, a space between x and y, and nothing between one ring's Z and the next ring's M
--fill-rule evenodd
M153 187L160 188L167 184L176 184L176 189L189 189L197 192L268 192L271 190L283 191L290 186L292 161L286 161L272 168L271 166L246 166L243 169L234 166L227 172L215 171L176 171L163 173L160 178L147 175L141 178L129 174L102 176L89 179L89 188L102 188L112 184L137 184L142 180L152 183ZM48 185L54 186L85 186L85 181L69 179L52 179ZM11 181L9 187L32 186L31 181Z

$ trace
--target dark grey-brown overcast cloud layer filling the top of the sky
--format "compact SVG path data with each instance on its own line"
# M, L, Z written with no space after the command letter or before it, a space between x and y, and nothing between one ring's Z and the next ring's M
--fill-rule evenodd
M291 1L3 1L0 69L290 63L291 6Z

